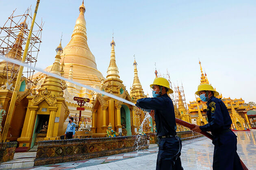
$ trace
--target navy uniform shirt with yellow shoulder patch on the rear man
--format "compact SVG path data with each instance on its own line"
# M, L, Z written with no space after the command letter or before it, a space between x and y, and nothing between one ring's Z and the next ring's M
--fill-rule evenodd
M229 129L232 120L228 113L226 105L214 96L207 101L207 118L208 123L200 126L202 131L210 131L213 135L219 134L222 130Z

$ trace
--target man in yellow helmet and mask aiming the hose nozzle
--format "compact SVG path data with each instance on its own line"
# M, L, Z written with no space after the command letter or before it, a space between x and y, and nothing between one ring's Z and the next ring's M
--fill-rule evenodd
M183 170L180 160L181 140L176 135L174 105L168 94L173 93L167 79L158 77L152 85L153 98L141 98L136 106L142 110L151 110L150 115L156 121L159 138L159 151L156 170Z

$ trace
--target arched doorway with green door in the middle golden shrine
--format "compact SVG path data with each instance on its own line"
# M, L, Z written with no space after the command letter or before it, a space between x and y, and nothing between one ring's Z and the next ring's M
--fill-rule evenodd
M125 127L127 131L126 136L132 135L130 109L125 104L121 106L121 125Z

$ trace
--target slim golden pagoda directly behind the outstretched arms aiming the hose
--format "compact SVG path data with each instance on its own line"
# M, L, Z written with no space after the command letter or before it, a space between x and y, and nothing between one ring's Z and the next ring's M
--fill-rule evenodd
M138 70L137 70L137 62L136 62L135 59L134 59L134 62L133 62L133 66L134 66L134 78L133 78L132 88L130 89L130 96L131 96L133 102L136 103L136 101L138 99L146 98L147 96L144 94L144 91L143 91L142 86L141 86L141 82L139 81ZM135 112L135 123L136 123L135 125L137 127L139 127L144 119L145 119L145 113L142 110L137 110ZM143 124L143 128L142 128L143 132L146 133L146 134L147 133L152 133L150 131L151 127L152 127L152 124L153 124L153 121L150 117Z

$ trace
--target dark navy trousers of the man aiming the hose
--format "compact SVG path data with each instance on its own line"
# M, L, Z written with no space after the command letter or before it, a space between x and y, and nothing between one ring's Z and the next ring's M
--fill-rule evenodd
M159 139L156 170L183 170L180 160L181 147L178 136Z

